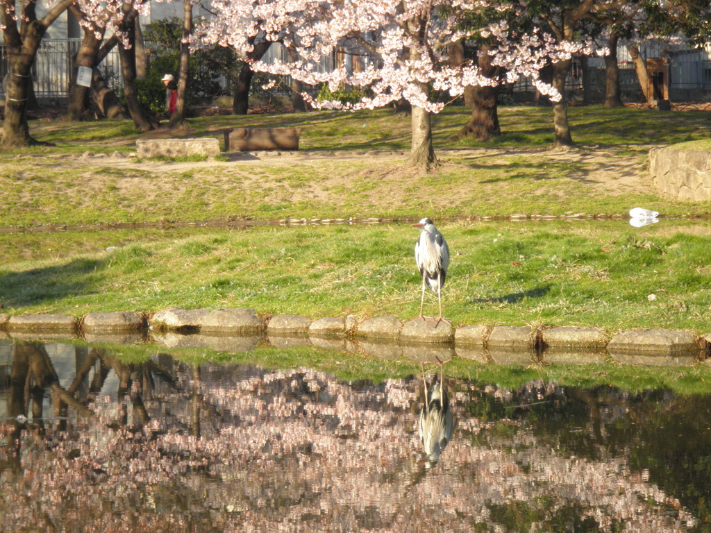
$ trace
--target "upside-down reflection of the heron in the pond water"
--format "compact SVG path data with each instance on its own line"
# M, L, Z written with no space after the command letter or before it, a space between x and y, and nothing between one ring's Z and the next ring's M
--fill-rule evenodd
M424 376L424 363L422 368L422 384L424 384L424 404L419 412L419 438L424 449L424 467L432 468L439 461L439 455L447 447L451 439L452 416L447 396L447 387L444 387L444 363L437 358L439 375L437 372L432 377L432 384L427 387Z

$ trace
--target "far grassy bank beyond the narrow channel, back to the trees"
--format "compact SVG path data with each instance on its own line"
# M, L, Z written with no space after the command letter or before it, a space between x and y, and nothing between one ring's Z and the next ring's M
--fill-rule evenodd
M0 154L0 227L115 225L283 217L505 216L625 214L641 205L664 215L702 215L704 203L664 198L646 176L648 149L707 142L704 112L572 107L581 149L551 153L551 111L503 107L503 134L488 143L449 141L469 119L450 107L434 117L442 166L422 174L398 168L410 146L410 119L389 110L202 117L188 136L222 139L228 126L301 127L301 153L358 158L279 158L262 164L217 161L108 163L80 154L134 151L127 121L33 122L56 147ZM392 151L373 158L368 151Z

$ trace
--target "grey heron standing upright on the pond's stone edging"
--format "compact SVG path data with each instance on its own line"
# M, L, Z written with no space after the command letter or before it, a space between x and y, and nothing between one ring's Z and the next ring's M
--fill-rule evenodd
M447 241L442 237L442 233L432 224L429 218L423 218L412 227L420 230L419 239L415 243L415 262L419 273L422 274L422 299L419 302L419 318L424 320L422 306L424 305L425 284L432 291L437 293L439 301L439 318L437 325L442 319L442 287L447 279L447 269L449 268L449 247Z

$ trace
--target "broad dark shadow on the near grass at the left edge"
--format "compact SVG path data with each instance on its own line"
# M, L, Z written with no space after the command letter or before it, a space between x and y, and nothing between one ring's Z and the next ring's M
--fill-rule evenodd
M0 303L20 308L83 296L95 286L104 267L103 260L74 259L63 265L4 272L0 274Z

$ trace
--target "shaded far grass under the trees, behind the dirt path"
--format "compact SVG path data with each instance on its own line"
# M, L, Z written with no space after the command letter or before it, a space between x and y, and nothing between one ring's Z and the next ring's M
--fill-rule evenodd
M582 146L625 146L643 150L649 144L675 144L705 139L711 132L707 112L663 112L648 109L569 107L574 141ZM469 120L464 107L447 107L434 115L434 144L439 149L479 147L476 139L449 141ZM552 110L548 107L500 107L502 136L488 147L546 146L553 141ZM240 127L299 127L301 149L353 150L410 148L410 117L389 109L363 112L319 111L292 114L250 114L190 119L191 134L223 140L223 129ZM33 121L31 132L56 148L34 147L14 154L82 153L87 149L110 154L132 150L137 131L128 120L68 124Z

